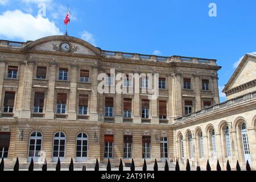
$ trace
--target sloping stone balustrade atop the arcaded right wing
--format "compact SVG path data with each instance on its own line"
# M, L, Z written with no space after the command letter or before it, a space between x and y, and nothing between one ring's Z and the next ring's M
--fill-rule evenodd
M214 111L222 110L228 107L236 106L245 102L256 100L256 92L251 92L248 94L245 94L240 97L233 98L231 100L221 102L219 104L206 107L205 109L196 111L195 113L191 113L188 115L184 115L183 117L177 118L175 122L181 122L181 121L187 121L188 119L193 119L196 117L200 117L202 115L212 113Z

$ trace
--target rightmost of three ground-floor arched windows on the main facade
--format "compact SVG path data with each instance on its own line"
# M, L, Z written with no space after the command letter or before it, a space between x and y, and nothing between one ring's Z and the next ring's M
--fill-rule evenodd
M76 162L88 160L88 137L85 133L79 133L76 137Z

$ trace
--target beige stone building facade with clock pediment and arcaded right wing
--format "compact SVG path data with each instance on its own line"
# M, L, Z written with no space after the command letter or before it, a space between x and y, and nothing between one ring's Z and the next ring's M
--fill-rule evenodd
M250 96L251 106L239 102L242 114L236 112L237 105L235 109L228 104L220 109L217 76L220 68L213 59L104 51L70 36L49 36L26 43L1 40L1 157L5 157L7 163L16 157L22 163L30 162L31 158L37 162L44 158L56 162L60 157L62 162L73 158L75 162L85 163L95 162L96 158L103 163L108 158L113 163L119 162L119 158L129 163L133 158L135 163L142 164L144 158L152 162L155 158L164 161L190 155L191 160L203 163L211 157L206 143L212 126L216 130L217 146L214 159L221 158L225 163L224 152L218 149L221 148L218 144L223 145L219 141L220 130L226 122L222 121L233 122L233 129L229 131L232 136L238 134L234 130L241 125L236 122L234 126L237 118L255 121L255 117L251 117L255 115L255 94L248 91L243 96ZM158 73L156 84L152 83L158 85L159 97L150 100L150 93L143 93L150 85L149 77L139 78L139 93L99 93L100 73L109 75L106 82L110 89L119 82L110 75L110 69L125 75ZM247 72L242 74L243 80L255 71L252 68ZM228 86L225 91L230 96L232 89L246 84L231 82L228 85L234 88ZM134 90L129 80L124 84ZM255 85L251 88L255 90ZM208 114L207 108L213 108L214 114ZM198 112L199 116L195 114ZM188 138L198 143L200 130L205 156L199 158L197 144L192 144L195 155L191 157ZM250 150L255 151L255 123L247 124L247 130L254 135L248 138ZM192 135L186 138L189 132ZM184 155L179 147L181 135L184 136ZM241 145L234 142L232 147L238 144ZM237 148L242 154L242 147ZM242 159L240 153L232 150L232 159ZM255 162L255 157L251 156L251 162Z

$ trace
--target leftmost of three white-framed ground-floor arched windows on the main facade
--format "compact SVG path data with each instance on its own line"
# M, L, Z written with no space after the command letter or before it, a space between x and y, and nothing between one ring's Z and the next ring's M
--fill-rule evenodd
M34 162L38 162L40 158L40 151L42 149L42 133L40 131L34 131L30 135L28 144L28 162L33 158Z

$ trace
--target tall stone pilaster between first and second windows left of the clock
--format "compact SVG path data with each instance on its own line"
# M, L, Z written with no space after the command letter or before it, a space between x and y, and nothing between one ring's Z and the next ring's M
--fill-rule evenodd
M54 118L54 94L55 94L55 78L56 77L56 64L49 65L49 84L46 97L46 118Z

